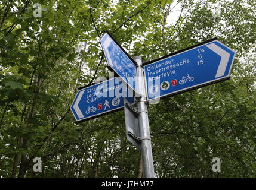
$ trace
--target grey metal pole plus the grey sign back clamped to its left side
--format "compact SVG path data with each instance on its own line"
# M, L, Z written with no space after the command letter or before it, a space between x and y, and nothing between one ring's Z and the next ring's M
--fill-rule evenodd
M141 96L137 99L137 109L125 100L125 125L127 130L127 139L132 144L140 148L144 178L155 178L143 66L140 56L135 56L134 60L138 64L138 91Z

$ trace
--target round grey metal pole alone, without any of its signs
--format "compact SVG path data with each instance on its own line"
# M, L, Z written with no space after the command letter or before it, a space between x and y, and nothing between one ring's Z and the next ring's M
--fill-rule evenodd
M138 109L138 128L140 131L141 140L141 156L143 163L143 177L144 178L155 178L154 166L153 166L153 154L151 146L151 138L149 132L149 116L147 114L146 105L146 84L143 77L143 66L140 56L133 58L137 66L137 85L138 92L141 97L138 98L137 109Z

